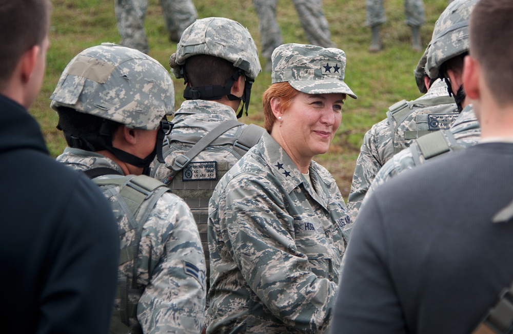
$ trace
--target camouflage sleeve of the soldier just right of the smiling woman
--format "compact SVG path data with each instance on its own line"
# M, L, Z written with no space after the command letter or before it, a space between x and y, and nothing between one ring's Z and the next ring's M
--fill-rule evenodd
M354 168L347 208L354 221L374 176L381 166L393 155L389 123L386 119L376 123L365 133L360 154Z

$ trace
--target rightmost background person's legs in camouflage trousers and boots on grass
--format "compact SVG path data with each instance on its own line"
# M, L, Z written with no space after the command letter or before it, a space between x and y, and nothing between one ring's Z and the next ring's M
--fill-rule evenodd
M386 22L384 0L366 0L367 22L366 25L372 29L372 41L369 52L378 52L383 49L380 27ZM404 11L406 14L405 23L411 28L411 48L415 51L422 51L420 38L420 27L424 24L424 4L422 0L404 0Z

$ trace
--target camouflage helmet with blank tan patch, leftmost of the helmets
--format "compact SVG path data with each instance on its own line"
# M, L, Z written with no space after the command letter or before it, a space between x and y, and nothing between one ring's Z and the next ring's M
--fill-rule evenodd
M174 112L174 87L155 59L119 45L103 43L76 55L64 69L50 107L110 119L128 128L154 130Z

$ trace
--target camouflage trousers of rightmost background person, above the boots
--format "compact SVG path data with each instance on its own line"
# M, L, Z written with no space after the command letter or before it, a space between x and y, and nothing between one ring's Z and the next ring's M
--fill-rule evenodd
M367 26L373 27L386 22L384 0L366 0ZM404 0L405 23L408 26L420 27L424 24L424 4L422 0Z

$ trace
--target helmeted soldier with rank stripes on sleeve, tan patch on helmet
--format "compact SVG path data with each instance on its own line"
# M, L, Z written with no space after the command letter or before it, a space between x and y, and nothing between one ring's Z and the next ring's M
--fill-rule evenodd
M144 175L174 111L171 77L155 59L112 44L88 48L50 97L69 148L57 161L89 176L109 199L120 232L111 332L199 332L205 259L186 203ZM131 330L131 331L130 331Z

